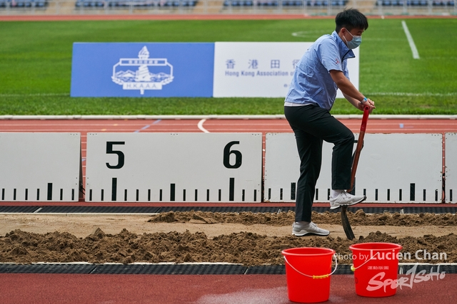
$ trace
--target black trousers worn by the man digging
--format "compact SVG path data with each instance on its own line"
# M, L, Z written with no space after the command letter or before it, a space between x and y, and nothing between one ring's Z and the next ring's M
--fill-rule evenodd
M316 182L321 172L322 142L325 140L334 144L331 189L349 189L354 135L348 127L330 115L328 110L318 105L284 107L284 114L295 133L300 157L295 220L311 221Z

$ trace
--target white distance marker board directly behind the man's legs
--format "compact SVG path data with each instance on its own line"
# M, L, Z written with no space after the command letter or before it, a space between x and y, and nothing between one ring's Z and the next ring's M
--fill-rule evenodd
M323 142L314 201L328 201L332 147ZM442 148L441 134L366 134L356 172L356 194L366 195L368 202L441 202ZM295 200L299 166L293 133L267 133L266 201Z

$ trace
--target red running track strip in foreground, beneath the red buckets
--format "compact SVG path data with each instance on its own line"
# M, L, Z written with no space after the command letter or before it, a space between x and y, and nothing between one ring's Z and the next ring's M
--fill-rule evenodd
M0 274L0 303L286 304L285 275ZM398 288L388 298L356 295L352 275L331 277L327 303L456 303L457 274Z

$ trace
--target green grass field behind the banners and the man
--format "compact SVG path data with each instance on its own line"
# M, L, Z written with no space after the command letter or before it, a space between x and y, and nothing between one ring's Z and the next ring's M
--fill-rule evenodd
M360 90L376 114L457 112L457 19L369 19ZM283 98L70 98L74 42L314 41L333 19L0 22L0 115L282 114ZM295 33L295 34L293 34ZM333 114L358 113L337 100ZM374 114L374 113L373 113Z

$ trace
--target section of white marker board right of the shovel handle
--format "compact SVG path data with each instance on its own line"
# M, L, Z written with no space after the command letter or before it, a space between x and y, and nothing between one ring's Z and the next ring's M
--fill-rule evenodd
M366 134L356 194L367 201L441 203L443 135Z

